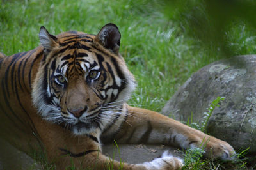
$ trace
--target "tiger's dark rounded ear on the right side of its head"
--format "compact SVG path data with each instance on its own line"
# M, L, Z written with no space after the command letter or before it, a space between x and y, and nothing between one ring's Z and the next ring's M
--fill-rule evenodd
M116 54L119 52L121 34L118 27L115 24L106 24L100 29L96 36L97 42L99 42L106 49L110 49Z

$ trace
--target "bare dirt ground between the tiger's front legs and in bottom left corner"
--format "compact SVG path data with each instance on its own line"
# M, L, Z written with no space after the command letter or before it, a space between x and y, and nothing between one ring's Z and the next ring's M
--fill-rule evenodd
M182 157L182 152L177 148L159 145L144 144L106 144L102 147L103 153L115 160L128 162L131 164L151 161L169 150L172 155ZM0 139L0 170L1 169L43 169L31 157L17 150L10 144Z

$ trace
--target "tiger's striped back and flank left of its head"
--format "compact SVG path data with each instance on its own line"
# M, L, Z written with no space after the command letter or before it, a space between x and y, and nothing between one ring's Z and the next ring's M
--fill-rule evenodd
M38 135L31 119L31 81L42 58L42 47L12 56L0 55L0 137L22 151L38 148ZM35 59L35 56L37 57Z

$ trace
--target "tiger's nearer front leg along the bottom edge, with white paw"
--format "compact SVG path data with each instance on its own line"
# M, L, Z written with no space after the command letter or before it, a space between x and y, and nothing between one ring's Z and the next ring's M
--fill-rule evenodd
M182 160L172 157L167 152L160 158L141 164L118 162L102 154L99 130L91 134L75 136L72 132L45 121L36 124L37 127L45 125L51 127L51 131L44 128L38 130L45 144L48 160L55 164L56 169L173 170L180 169L183 165Z

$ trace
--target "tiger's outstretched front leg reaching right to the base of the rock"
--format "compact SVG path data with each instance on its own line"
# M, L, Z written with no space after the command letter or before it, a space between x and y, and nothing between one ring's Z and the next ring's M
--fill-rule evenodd
M234 148L225 141L204 134L179 121L147 109L129 105L126 107L126 116L120 124L120 129L111 134L111 139L115 139L119 144L165 144L183 149L200 147L204 148L206 157L223 160L230 159L236 154ZM110 135L108 132L105 134Z

